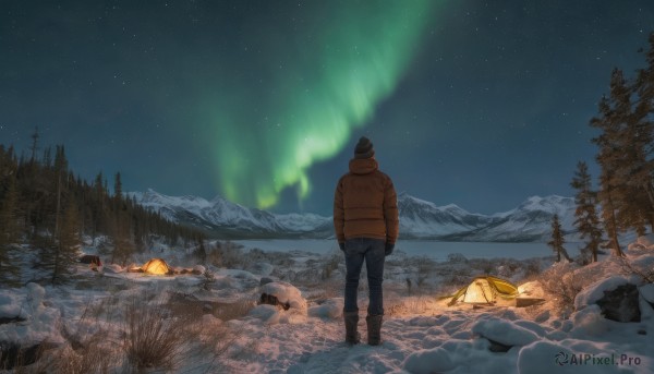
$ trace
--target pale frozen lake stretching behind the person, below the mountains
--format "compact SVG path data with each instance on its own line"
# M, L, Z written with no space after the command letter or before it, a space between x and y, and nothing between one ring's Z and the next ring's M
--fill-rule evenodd
M336 240L320 239L275 239L275 240L235 240L234 243L246 249L257 248L269 252L304 251L327 254L337 251ZM571 256L579 253L577 243L567 243L566 249ZM450 253L460 253L467 258L531 258L553 255L545 243L484 243L484 242L439 242L433 240L400 240L396 250L410 256L427 256L443 262Z

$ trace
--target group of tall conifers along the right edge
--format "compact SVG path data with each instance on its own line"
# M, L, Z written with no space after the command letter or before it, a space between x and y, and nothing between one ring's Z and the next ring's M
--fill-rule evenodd
M591 140L597 146L597 189L585 161L578 162L570 183L577 191L574 225L584 239L585 262L596 262L605 242L614 255L623 256L620 233L654 231L654 33L649 45L649 50L640 50L646 67L638 69L633 79L621 69L613 70L609 93L602 96L597 114L590 120L598 130ZM604 232L608 238L603 238ZM561 253L567 256L561 239L555 217L549 245L559 258Z

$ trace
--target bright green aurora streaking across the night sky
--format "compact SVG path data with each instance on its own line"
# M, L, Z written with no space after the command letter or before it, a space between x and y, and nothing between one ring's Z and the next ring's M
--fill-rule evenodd
M230 95L207 104L225 196L259 208L288 188L305 198L311 166L338 154L402 79L434 3L313 2L303 22L265 19L244 31L243 48L258 53L231 63L251 75L226 79ZM241 79L258 80L262 91L246 91Z

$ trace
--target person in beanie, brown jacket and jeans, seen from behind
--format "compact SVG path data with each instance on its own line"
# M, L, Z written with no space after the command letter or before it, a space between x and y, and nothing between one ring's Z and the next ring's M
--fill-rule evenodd
M378 346L382 341L384 260L392 253L399 232L395 186L378 167L373 143L362 136L350 160L350 172L338 181L334 195L334 229L346 254L343 319L346 341L351 345L360 341L356 290L364 260L370 290L365 318L368 345Z

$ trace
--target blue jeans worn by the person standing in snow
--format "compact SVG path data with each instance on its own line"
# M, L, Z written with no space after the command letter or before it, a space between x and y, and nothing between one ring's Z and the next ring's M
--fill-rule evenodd
M346 240L346 305L343 312L359 312L356 291L361 267L365 260L368 279L368 315L384 314L384 260L386 242L382 239L354 238Z

